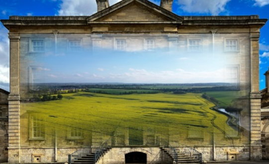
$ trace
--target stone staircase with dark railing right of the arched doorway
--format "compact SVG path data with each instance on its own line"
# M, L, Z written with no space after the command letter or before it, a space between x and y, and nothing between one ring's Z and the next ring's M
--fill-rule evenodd
M170 148L162 148L162 150L166 153L168 153L171 158L175 161L175 158L173 157L174 156L174 152L171 151ZM176 148L176 151L177 151L177 154L178 154L178 164L180 163L200 163L200 157L199 155L191 155L191 153L189 152L181 152L179 150L177 150Z

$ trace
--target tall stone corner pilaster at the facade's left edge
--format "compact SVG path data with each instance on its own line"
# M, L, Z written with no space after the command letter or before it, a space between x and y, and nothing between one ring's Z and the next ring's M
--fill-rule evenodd
M8 163L20 163L19 34L9 33Z

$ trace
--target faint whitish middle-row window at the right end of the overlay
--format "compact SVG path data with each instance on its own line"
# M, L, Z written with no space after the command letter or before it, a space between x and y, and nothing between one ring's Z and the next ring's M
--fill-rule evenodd
M239 66L227 66L225 81L232 85L239 86Z

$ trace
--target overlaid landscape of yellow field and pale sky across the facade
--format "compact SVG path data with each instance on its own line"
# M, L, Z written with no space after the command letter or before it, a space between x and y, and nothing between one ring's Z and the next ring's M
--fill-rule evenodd
M199 39L186 49L159 35L107 35L93 47L88 37L42 37L31 44L43 53L21 49L22 145L249 144L249 84L238 59L199 51Z

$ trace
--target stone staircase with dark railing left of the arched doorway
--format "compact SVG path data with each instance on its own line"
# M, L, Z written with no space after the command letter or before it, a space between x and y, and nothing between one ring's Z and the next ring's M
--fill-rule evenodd
M109 151L109 148L101 150L101 152L100 152L101 156L99 156L97 158L97 161L103 155L105 155L105 153L108 152L108 151ZM95 153L87 154L86 156L82 156L81 158L78 158L78 159L74 160L74 162L72 162L71 164L95 164L94 163L94 155L95 155Z

